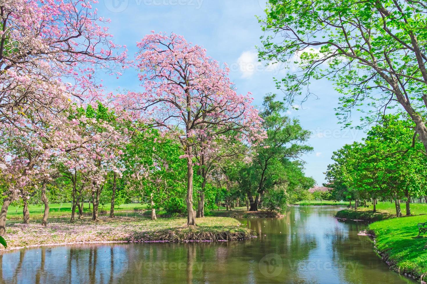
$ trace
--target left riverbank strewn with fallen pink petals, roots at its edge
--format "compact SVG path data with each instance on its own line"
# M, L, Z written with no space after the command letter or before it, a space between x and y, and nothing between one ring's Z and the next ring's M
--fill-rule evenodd
M101 217L90 219L50 219L47 227L40 221L30 224L12 223L6 227L8 250L21 247L85 243L126 242L191 242L234 241L255 237L256 232L240 226L233 218L206 217L197 219L197 226L188 227L186 218Z

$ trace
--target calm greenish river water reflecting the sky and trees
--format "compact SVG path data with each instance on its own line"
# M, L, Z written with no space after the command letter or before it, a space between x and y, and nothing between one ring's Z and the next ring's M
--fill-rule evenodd
M389 271L333 218L339 207L291 207L284 218L241 218L250 241L41 247L0 255L0 283L412 283Z

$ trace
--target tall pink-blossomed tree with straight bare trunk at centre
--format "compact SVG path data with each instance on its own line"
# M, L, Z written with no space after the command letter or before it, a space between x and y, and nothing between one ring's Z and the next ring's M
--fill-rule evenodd
M143 91L119 95L118 101L134 118L180 141L185 153L181 158L187 159L187 224L195 225L193 149L204 143L198 148L208 150L209 138L229 131L239 141L258 143L264 137L261 119L250 94L237 94L228 68L221 68L201 46L177 34L153 31L137 47Z

